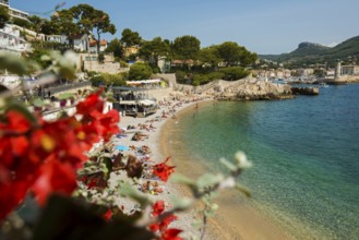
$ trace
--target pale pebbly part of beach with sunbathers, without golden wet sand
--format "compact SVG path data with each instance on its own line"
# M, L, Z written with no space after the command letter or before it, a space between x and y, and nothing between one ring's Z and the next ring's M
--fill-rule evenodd
M168 96L167 96L168 98ZM121 151L123 155L133 155L137 158L147 158L148 165L154 165L164 161L170 155L164 155L160 152L160 146L163 144L161 134L163 127L167 121L176 121L177 112L190 106L194 106L202 98L190 97L186 100L170 100L165 101L160 109L156 113L151 115L146 118L133 118L129 116L121 116L120 128L123 130L123 137L115 137L112 140L113 146L125 146L129 149ZM130 129L134 127L134 129ZM142 129L141 129L142 128ZM141 132L144 136L141 141L133 141L132 137L136 132ZM151 149L147 155L139 154L137 149L146 146ZM134 151L136 149L136 151ZM115 151L113 154L119 153ZM175 165L173 161L169 161L169 165ZM140 183L146 182L146 179L140 179ZM151 194L153 200L164 200L168 203L168 207L171 206L173 197L182 196L184 194L180 185L171 182L157 181L163 192L158 194ZM136 204L129 200L119 199L118 205L124 206L125 209L132 209ZM186 213L176 214L179 219L171 223L170 227L183 229L186 239L192 238L195 232L191 231L191 224L193 221L193 215Z

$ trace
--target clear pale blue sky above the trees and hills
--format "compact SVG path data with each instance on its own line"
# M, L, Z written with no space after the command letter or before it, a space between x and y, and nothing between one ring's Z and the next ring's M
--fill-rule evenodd
M339 44L359 35L358 0L10 0L12 8L47 13L87 3L110 15L120 38L123 28L151 40L193 35L201 46L237 41L258 53L284 53L302 41Z

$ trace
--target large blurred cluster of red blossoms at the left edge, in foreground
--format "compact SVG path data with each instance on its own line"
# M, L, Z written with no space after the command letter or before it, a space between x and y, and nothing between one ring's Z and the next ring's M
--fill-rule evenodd
M71 194L84 153L117 132L119 113L103 113L100 92L76 107L75 116L45 121L27 119L16 109L0 118L0 220L32 190L39 203L52 193Z

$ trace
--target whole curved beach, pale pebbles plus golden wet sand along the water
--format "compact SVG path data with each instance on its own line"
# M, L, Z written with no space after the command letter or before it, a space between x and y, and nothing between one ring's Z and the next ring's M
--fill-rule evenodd
M201 166L195 160L190 159L183 151L178 151L180 143L171 141L172 134L176 134L176 124L181 121L181 116L192 115L195 110L196 103L201 107L204 104L212 104L212 101L189 99L188 101L167 101L160 107L155 115L147 118L121 117L120 128L128 129L129 125L135 129L127 130L125 136L116 139L115 145L132 146L132 149L123 151L124 155L136 155L134 148L141 148L143 145L148 146L151 154L147 155L151 161L160 163L166 157L170 156L170 165L175 165L177 172L186 175L191 178L196 178L206 171L205 166ZM166 115L164 115L164 112ZM175 115L175 118L173 118ZM163 116L166 116L163 118ZM147 129L139 130L139 124L145 124ZM149 128L149 125L152 128ZM141 131L146 136L141 141L132 141L135 132ZM159 183L164 185L163 193L154 195L165 200L167 203L171 202L171 197L181 197L189 195L190 192L182 185L170 182ZM207 226L207 231L204 239L290 239L273 220L267 219L258 211L251 208L244 200L238 203L234 202L231 197L234 194L239 194L235 190L227 190L220 192L220 196L216 199L219 209L216 212L214 218L211 218ZM191 239L193 236L199 237L198 230L191 225L194 219L193 212L186 212L178 214L179 219L172 223L172 227L184 230L181 235L184 239Z

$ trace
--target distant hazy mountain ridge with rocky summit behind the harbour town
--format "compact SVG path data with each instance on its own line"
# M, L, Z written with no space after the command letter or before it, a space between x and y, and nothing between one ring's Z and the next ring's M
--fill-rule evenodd
M335 47L326 47L314 43L301 43L298 48L283 55L259 55L261 59L287 63L335 62L348 57L359 59L359 36L349 38Z

